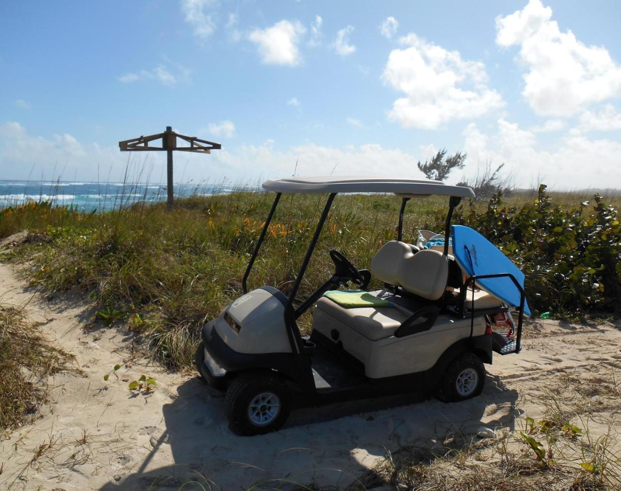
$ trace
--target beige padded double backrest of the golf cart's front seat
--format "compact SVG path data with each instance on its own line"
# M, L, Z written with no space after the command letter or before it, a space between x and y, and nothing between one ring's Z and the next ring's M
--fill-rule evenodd
M402 286L428 300L437 300L446 290L448 257L437 250L416 254L403 242L386 242L376 252L369 267L371 274L389 285Z

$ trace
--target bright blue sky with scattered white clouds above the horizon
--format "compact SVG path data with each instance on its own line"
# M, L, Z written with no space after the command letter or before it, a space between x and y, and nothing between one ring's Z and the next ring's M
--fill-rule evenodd
M296 159L420 177L446 148L468 153L451 182L504 162L525 187L621 188L619 19L615 0L9 2L2 179L117 180L117 142L172 125L222 143L177 154L184 180ZM160 180L162 154L130 161Z

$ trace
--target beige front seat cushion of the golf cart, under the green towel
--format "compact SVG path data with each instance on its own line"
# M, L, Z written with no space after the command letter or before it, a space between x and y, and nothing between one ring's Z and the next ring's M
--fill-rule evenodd
M378 294L379 291L369 293ZM402 322L412 314L404 307L345 308L326 297L317 301L317 309L373 341L392 336Z

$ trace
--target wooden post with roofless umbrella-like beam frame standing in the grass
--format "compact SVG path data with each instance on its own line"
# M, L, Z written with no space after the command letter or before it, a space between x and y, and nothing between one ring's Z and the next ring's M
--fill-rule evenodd
M151 146L150 142L161 138L161 146ZM177 146L177 138L187 141L189 146ZM129 140L119 141L119 148L122 152L148 152L152 150L166 151L166 174L167 174L167 187L168 190L168 208L173 206L173 151L178 150L181 152L196 152L196 153L211 153L212 150L219 150L222 145L214 143L213 141L207 141L204 139L196 138L196 136L179 135L175 133L171 126L166 126L164 133L158 133L157 135L138 136L138 138L132 138Z

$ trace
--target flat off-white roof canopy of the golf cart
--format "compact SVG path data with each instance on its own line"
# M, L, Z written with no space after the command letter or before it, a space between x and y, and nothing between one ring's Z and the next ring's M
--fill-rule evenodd
M399 177L289 177L266 180L263 188L276 193L395 193L402 198L429 195L474 198L469 187L450 186L441 181Z

